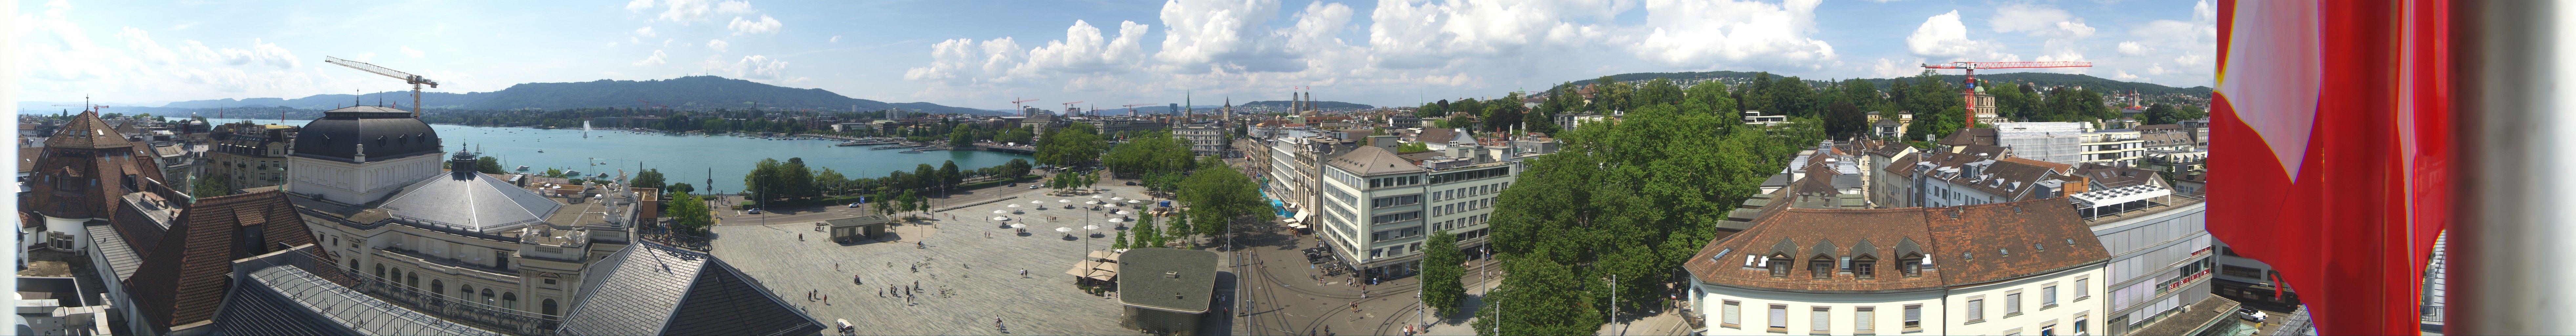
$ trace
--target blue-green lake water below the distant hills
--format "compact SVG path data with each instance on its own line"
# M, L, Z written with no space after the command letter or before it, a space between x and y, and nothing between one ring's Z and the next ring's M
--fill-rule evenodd
M206 119L206 121L240 121L240 119ZM252 119L258 124L278 124L278 119ZM291 127L304 127L301 119L286 119ZM933 152L902 152L902 150L868 150L873 145L835 147L840 140L755 140L755 137L698 137L698 134L652 134L652 132L621 132L621 129L592 129L582 137L582 129L526 129L526 127L459 127L459 124L430 124L438 129L438 140L448 152L474 150L482 155L500 158L500 165L518 168L528 165L531 173L544 173L546 168L582 171L582 173L616 173L626 168L634 173L636 165L662 171L670 184L690 184L698 191L742 191L742 173L752 171L752 163L762 158L804 158L809 168L822 173L822 168L840 171L850 178L884 178L889 171L912 171L914 165L930 163L938 168L943 160L956 160L961 171L989 168L1010 163L1012 158L1028 158L1015 152L984 152L984 150L933 150ZM466 147L459 147L466 145ZM546 152L536 152L546 150ZM592 165L598 163L598 165ZM714 184L708 184L708 171L714 171Z

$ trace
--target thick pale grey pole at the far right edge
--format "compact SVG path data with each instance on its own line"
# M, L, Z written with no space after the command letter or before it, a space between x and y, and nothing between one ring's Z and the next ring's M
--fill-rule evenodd
M2561 269L2576 261L2576 227L2563 209L2576 176L2561 168L2576 163L2566 147L2576 127L2576 5L2566 3L2452 3L2450 47L2460 111L2455 194L2445 266L2452 289L2442 313L2445 333L2576 333L2576 274Z

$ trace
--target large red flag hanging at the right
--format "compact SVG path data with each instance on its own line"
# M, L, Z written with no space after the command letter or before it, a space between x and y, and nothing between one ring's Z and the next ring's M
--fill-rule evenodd
M2419 333L2450 217L2442 0L2221 0L2210 222L2318 333Z

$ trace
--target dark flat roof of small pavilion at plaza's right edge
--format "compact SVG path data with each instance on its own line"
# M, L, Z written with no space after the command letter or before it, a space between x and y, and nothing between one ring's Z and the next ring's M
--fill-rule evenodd
M1216 295L1213 251L1133 248L1118 253L1118 302L1126 305L1208 313Z

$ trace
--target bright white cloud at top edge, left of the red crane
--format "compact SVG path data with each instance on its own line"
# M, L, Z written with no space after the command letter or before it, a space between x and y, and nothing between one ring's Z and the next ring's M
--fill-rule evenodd
M1643 28L1651 34L1631 44L1631 52L1667 67L1710 62L1824 67L1834 59L1834 47L1808 39L1816 31L1819 3L1649 0Z

